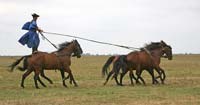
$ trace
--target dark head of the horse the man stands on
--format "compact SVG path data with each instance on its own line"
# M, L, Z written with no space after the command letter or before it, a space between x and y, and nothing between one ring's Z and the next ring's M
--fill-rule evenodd
M78 43L77 40L73 40L72 43L74 44L74 54L73 56L77 56L77 58L80 58L81 57L81 54L83 53L83 50L80 46L80 44Z

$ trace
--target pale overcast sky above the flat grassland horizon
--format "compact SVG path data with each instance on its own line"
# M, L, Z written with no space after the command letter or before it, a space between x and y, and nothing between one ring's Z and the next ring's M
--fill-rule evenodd
M54 32L143 47L164 40L173 53L200 53L199 0L0 0L0 55L27 55L18 40L21 27L37 13L38 26ZM44 34L58 45L74 38ZM90 54L127 54L131 50L77 39ZM56 49L40 37L40 51Z

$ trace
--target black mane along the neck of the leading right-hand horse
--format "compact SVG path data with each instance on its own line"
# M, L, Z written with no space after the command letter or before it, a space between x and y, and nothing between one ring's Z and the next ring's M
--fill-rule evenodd
M161 43L160 42L151 42L150 44L145 44L145 46L143 48L141 48L141 51L144 51L144 48L146 48L147 50L155 50L158 48L161 48Z

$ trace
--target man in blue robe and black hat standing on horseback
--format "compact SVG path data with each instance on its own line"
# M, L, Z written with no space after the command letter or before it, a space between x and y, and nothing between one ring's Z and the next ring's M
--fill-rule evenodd
M38 46L40 43L40 39L39 39L39 35L38 35L37 31L43 32L43 30L41 30L37 26L37 19L38 19L39 15L37 15L36 13L33 13L32 17L33 17L32 21L25 23L24 26L22 27L22 29L28 30L28 32L25 33L19 39L19 43L21 43L22 45L27 44L27 46L29 48L32 48L32 53L34 53L35 51L38 50Z

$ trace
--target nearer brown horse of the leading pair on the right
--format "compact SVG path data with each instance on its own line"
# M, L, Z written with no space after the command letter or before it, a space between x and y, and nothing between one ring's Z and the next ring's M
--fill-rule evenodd
M161 62L161 57L172 60L172 48L164 41L161 41L160 43L151 43L149 45L146 45L144 48L141 49L140 52L131 52L126 57L124 57L124 61L127 63L127 65L131 66L132 70L136 69L136 81L138 81L138 79L141 79L142 82L145 84L143 78L141 78L141 73L144 69L146 69L152 76L152 84L155 84L155 82L157 82L157 80L154 78L153 73L153 69L155 69L159 74L159 76L156 78L160 78L161 83L164 84L166 75L164 70L159 66ZM122 70L123 73L120 77L120 84L122 84L122 78L127 72L126 69L122 68Z

